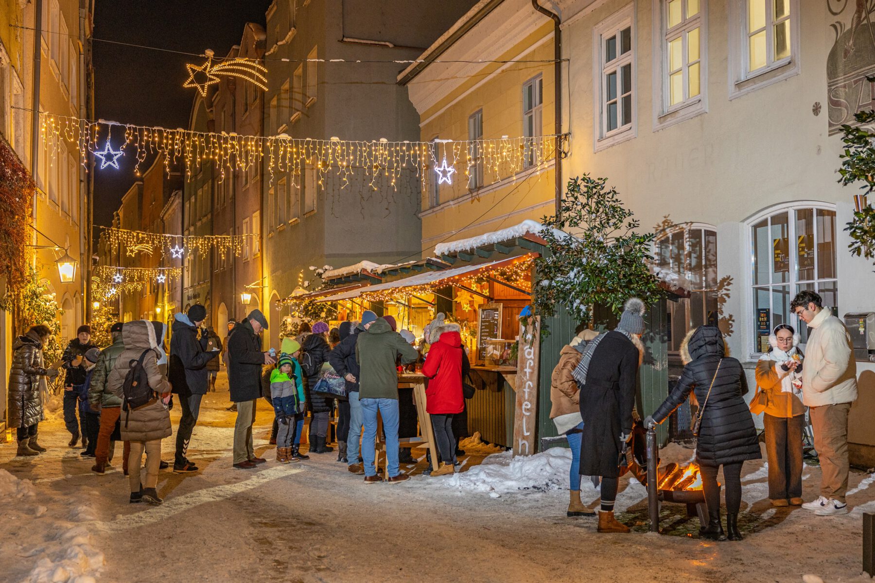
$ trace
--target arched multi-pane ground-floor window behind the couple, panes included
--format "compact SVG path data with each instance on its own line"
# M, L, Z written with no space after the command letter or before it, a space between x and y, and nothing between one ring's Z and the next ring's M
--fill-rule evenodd
M824 307L838 306L835 209L798 205L756 220L751 255L754 352L768 350L768 336L781 323L806 342L808 329L790 313L790 300L810 289L823 297Z

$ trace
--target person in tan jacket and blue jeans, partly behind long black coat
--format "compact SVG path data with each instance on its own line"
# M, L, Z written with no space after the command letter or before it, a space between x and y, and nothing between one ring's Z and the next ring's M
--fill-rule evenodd
M553 406L550 408L549 418L556 425L556 432L560 435L565 434L568 438L568 445L571 448L569 471L571 500L566 513L569 517L594 517L596 514L594 510L580 502L578 466L580 465L580 432L584 428L584 420L580 416L580 389L571 373L580 362L584 345L597 336L598 332L579 327L577 336L559 351L559 364L556 364L550 376L549 397Z

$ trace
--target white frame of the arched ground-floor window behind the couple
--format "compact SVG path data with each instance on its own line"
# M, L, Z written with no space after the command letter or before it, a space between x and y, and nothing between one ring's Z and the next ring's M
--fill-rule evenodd
M797 279L797 270L798 270L798 238L796 236L796 224L795 224L795 212L802 210L812 210L814 211L814 226L812 229L812 237L815 241L815 248L817 246L817 211L829 211L836 214L835 217L835 226L833 230L833 235L835 237L833 241L833 252L835 253L835 277L825 277L825 278L815 278L812 280L799 280ZM763 219L767 219L767 226L769 230L771 230L771 219L775 215L779 215L781 213L787 213L788 215L788 281L786 283L773 283L771 281L772 272L769 272L769 282L768 283L755 283L755 256L754 256L754 248L753 248L753 227L756 226ZM748 349L748 353L750 354L751 359L755 360L760 357L762 352L760 352L759 347L756 345L754 337L756 336L756 315L754 311L756 309L756 305L753 299L754 290L757 288L768 288L769 290L773 288L780 288L783 286L787 286L789 297L792 299L795 296L795 288L800 285L813 283L816 288L819 287L820 283L823 282L833 282L836 286L836 295L838 296L840 293L839 288L839 277L838 277L838 259L839 259L839 250L837 245L838 233L840 229L840 225L838 222L838 213L836 205L832 205L830 203L824 203L822 201L817 200L794 200L788 203L781 203L779 205L772 205L765 209L762 209L760 212L757 212L750 219L747 219L744 223L746 228L745 238L746 238L746 257L750 261L750 267L746 269L746 293L744 305L746 309L746 314L751 315L751 317L746 318L746 330L745 330L745 345ZM771 236L771 234L770 234ZM816 264L815 264L816 265ZM816 267L815 267L816 268ZM770 268L771 269L771 268ZM774 328L774 309L772 308L773 294L769 294L769 316L770 316L770 328ZM829 306L830 308L837 309L838 306ZM802 332L802 325L799 321L799 316L795 316L795 314L789 314L789 323L793 326L796 332ZM804 344L804 343L803 343Z

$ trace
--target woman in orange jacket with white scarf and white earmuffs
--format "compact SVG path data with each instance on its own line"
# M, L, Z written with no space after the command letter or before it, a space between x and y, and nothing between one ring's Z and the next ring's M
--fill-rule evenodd
M792 326L779 324L772 344L757 362L756 377L766 394L763 413L768 456L768 497L774 506L802 504L802 351Z

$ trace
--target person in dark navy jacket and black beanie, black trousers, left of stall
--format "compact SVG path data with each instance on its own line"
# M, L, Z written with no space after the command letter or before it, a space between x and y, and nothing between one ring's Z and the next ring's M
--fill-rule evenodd
M200 303L188 309L187 314L181 312L173 315L173 336L170 340L170 369L168 378L173 386L173 392L179 395L179 405L182 407L182 417L179 418L179 428L176 430L176 456L173 460L173 471L186 474L198 471L198 467L186 458L188 444L200 414L200 399L207 394L209 387L209 371L207 364L219 356L220 349L213 346L207 351L209 336L201 333L200 324L207 318L207 309Z

